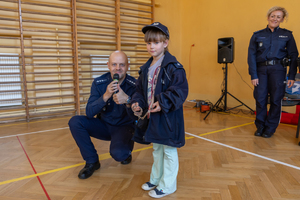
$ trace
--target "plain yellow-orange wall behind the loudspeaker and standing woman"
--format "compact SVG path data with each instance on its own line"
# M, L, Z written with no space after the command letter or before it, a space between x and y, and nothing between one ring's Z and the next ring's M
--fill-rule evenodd
M287 9L290 16L288 22L282 23L281 27L292 30L297 44L300 44L298 0L156 0L155 2L157 4L155 20L168 26L170 52L183 64L187 76L190 77L188 100L208 99L215 103L221 95L223 64L217 62L218 38L234 38L234 65L243 79L251 85L247 65L250 37L254 31L266 27L266 13L272 6L283 6ZM192 44L195 46L191 47ZM242 81L234 65L228 64L228 90L255 109L252 89ZM239 104L228 97L228 105Z

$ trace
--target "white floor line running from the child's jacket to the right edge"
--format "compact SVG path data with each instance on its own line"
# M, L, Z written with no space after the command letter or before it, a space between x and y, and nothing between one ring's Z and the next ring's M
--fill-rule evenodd
M216 142L216 141L213 141L213 140L210 140L210 139L207 139L207 138L198 136L198 135L194 135L194 134L192 134L192 133L185 132L185 134L188 134L188 135L191 135L191 136L193 136L193 137L200 138L200 139L202 139L202 140L205 140L205 141L208 141L208 142L212 142L212 143L214 143L214 144L218 144L218 145L221 145L221 146L230 148L230 149L234 149L234 150L236 150L236 151L240 151L240 152L243 152L243 153L252 155L252 156L256 156L256 157L258 157L258 158L262 158L262 159L265 159L265 160L269 160L269 161L274 162L274 163L277 163L277 164L281 164L281 165L284 165L284 166L287 166L287 167L291 167L291 168L300 170L300 167L297 167L297 166L294 166L294 165L290 165L290 164L287 164L287 163L284 163L284 162L281 162L281 161L278 161L278 160L275 160L275 159L272 159L272 158L268 158L268 157L261 156L261 155L256 154L256 153L252 153L252 152L249 152L249 151L245 151L245 150L243 150L243 149L239 149L239 148L236 148L236 147L232 147L232 146L229 146L229 145L227 145L227 144L222 144L222 143L220 143L220 142Z

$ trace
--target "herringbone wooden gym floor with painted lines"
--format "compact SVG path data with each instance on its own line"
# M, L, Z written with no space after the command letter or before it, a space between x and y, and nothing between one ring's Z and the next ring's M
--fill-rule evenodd
M179 151L178 188L165 200L300 199L300 147L296 126L280 124L272 138L253 135L254 116L205 114L184 107L186 145ZM152 147L136 144L133 161L121 165L109 142L93 140L101 168L86 180L66 118L0 124L0 199L152 199Z

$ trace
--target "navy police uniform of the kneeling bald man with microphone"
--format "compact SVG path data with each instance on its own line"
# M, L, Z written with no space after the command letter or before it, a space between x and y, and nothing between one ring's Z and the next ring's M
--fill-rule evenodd
M73 116L69 121L71 133L86 163L99 160L90 137L110 140L110 155L116 161L125 160L133 149L134 120L128 116L126 105L116 104L112 97L107 102L103 101L103 94L112 81L110 72L96 78L86 106L86 116ZM135 82L135 78L126 75L120 87L131 97L135 92ZM97 118L94 118L95 115Z

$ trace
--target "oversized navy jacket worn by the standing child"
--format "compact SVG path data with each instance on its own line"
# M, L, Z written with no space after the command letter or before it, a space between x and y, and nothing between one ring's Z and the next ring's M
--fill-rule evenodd
M147 86L148 68L151 57L139 71L136 92L131 103L138 102L143 110L148 109ZM136 128L133 140L143 144L158 143L172 147L185 144L183 103L188 95L188 83L183 66L168 51L161 64L154 92L154 102L158 101L160 112L150 114L146 131Z

